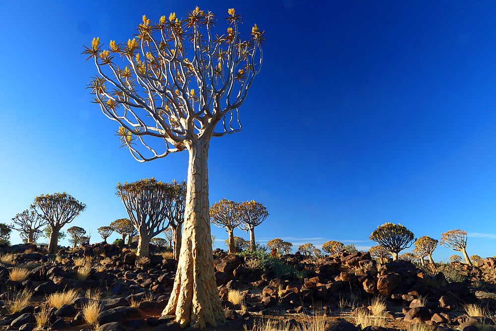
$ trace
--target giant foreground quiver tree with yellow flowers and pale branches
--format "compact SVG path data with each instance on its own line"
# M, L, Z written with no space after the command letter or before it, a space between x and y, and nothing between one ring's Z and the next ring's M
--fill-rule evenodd
M248 40L238 34L241 15L229 9L227 31L216 17L196 7L179 20L175 13L152 24L146 16L137 39L111 41L103 50L94 38L83 54L98 74L89 84L95 102L140 161L171 152L189 153L186 212L178 272L163 314L175 314L182 327L203 329L225 321L217 288L210 238L207 158L210 138L241 131L238 108L262 64L263 32L255 26ZM110 88L107 87L110 86ZM222 120L223 129L215 132ZM233 122L238 126L233 127ZM163 139L157 152L147 137ZM137 143L144 145L142 153ZM193 286L194 284L194 286Z

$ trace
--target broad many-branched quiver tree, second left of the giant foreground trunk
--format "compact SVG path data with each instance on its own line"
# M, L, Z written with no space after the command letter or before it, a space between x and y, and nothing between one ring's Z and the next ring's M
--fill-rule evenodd
M145 178L137 182L117 184L117 195L124 203L132 225L139 233L138 257L148 256L150 239L164 231L169 222L167 211L171 207L172 192L166 183L155 178ZM132 231L127 232L132 240Z

